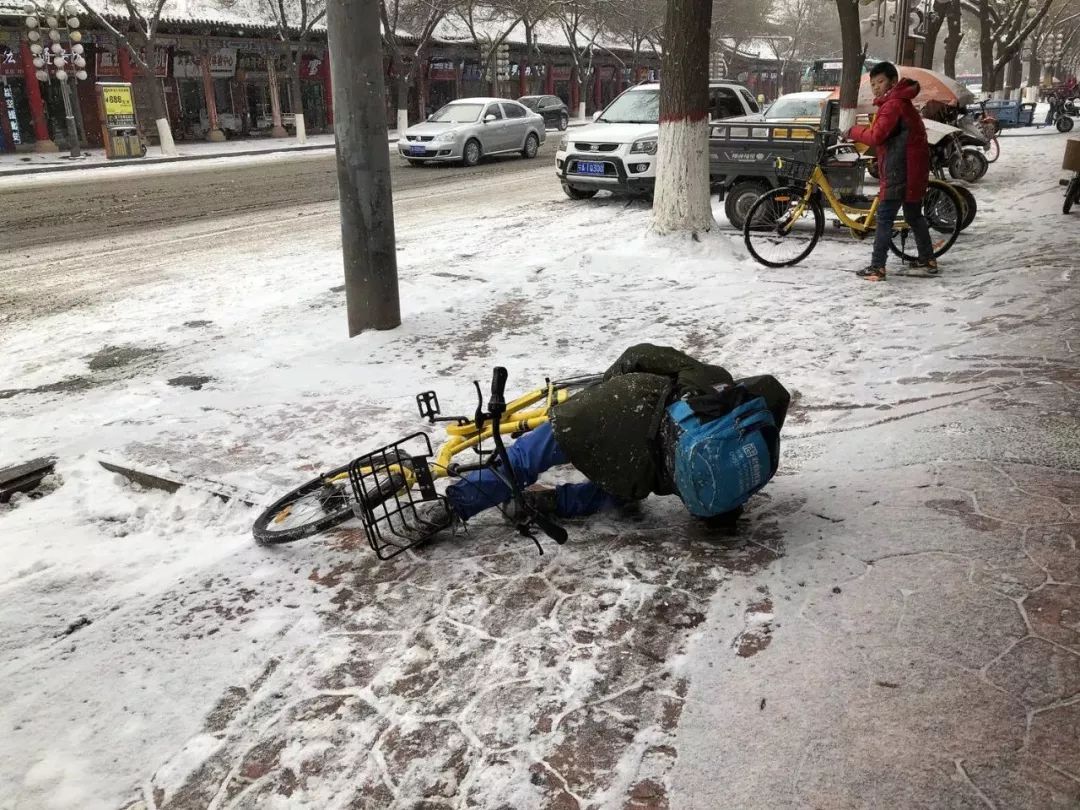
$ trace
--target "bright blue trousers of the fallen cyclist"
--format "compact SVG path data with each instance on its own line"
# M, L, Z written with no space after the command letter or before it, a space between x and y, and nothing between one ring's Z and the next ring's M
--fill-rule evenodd
M555 432L545 422L515 441L507 448L510 464L514 468L517 484L525 488L535 484L540 473L557 464L569 461L555 443ZM505 503L513 492L502 480L490 470L465 473L461 480L446 488L446 497L454 511L463 519L469 519L485 509ZM591 515L606 509L615 509L625 501L605 492L598 485L586 481L581 484L559 484L555 487L555 514L559 517Z

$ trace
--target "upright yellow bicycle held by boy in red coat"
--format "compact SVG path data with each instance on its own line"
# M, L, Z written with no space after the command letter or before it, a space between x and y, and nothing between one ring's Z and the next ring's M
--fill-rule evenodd
M791 267L802 261L813 251L825 230L825 211L829 206L841 226L856 239L873 234L877 227L879 200L875 197L866 207L866 199L840 200L822 167L829 154L850 149L849 144L825 147L821 133L815 138L816 159L812 162L778 159L777 168L787 185L759 197L751 206L743 225L746 249L767 267ZM931 179L922 199L922 210L934 240L934 258L956 242L963 225L963 201L947 183ZM919 258L915 235L903 218L897 218L890 248L905 261Z

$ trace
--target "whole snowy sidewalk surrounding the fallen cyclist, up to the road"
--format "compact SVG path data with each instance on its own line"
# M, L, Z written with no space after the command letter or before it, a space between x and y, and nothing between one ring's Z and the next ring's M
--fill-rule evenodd
M1076 631L1016 609L1035 562L1043 604L1080 609L1080 488L1028 495L1036 465L1080 469L1063 148L1002 138L942 275L886 284L835 232L778 271L723 229L643 235L644 204L571 202L550 166L411 189L404 323L353 340L325 204L35 252L32 275L0 257L0 460L60 459L0 508L0 810L985 806L1028 744L1010 690L1057 708L1080 683ZM265 502L416 430L418 391L468 410L496 363L516 391L640 340L794 393L732 542L652 498L542 557L483 515L378 564L355 526L256 548L204 488ZM1057 669L1014 675L1013 646Z

